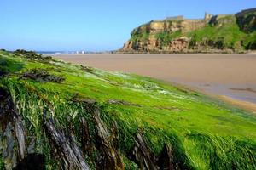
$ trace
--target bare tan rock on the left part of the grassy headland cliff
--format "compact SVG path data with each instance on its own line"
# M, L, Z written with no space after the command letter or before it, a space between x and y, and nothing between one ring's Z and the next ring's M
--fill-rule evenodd
M156 38L156 35L162 32L188 32L194 31L207 25L207 20L184 20L183 18L178 20L166 19L166 20L154 20L148 24L139 26L131 32L131 37L134 35L143 34L147 32L148 38L143 41L130 40L125 42L121 51L183 51L189 46L189 38L178 37L174 38L167 45L163 45L160 39Z

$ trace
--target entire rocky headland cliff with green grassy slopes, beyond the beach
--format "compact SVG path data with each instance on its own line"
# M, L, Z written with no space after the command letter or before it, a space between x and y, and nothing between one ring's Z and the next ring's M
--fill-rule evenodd
M201 52L255 49L256 8L238 14L206 14L152 20L131 32L123 52Z

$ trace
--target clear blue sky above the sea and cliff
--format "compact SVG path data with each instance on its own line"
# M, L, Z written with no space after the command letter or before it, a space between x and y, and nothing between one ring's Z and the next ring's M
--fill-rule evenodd
M112 50L150 20L245 8L256 8L256 0L0 0L0 48Z

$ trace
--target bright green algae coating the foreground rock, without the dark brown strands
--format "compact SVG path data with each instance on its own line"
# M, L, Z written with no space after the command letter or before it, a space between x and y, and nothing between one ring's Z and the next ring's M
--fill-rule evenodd
M191 169L255 169L256 117L232 105L166 82L137 75L92 69L58 60L43 62L0 52L0 60L9 65L0 86L8 88L25 120L28 136L36 137L35 151L47 156L47 168L54 169L49 144L42 130L42 110L51 105L49 116L57 127L69 122L79 136L79 118L84 117L95 134L91 117L74 96L95 99L102 120L111 127L117 122L120 151L125 167L136 169L126 157L138 129L143 129L147 144L159 154L165 143L172 144L176 162ZM4 67L4 68L3 68ZM49 74L65 77L64 82L37 82L20 79L25 71L44 68ZM111 99L136 105L109 104ZM3 154L3 153L2 153ZM0 167L1 167L0 159ZM88 161L91 167L94 162Z

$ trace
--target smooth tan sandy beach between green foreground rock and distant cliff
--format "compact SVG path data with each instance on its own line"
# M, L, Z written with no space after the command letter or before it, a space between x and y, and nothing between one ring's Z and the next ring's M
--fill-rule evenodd
M180 83L210 94L245 101L256 108L256 54L84 54L55 57L107 71L131 72Z

